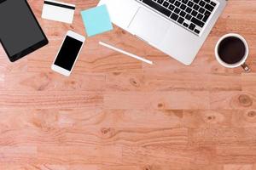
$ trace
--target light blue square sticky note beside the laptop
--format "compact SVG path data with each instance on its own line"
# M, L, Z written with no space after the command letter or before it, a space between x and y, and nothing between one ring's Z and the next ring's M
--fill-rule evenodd
M81 14L88 37L113 30L106 5L84 10Z

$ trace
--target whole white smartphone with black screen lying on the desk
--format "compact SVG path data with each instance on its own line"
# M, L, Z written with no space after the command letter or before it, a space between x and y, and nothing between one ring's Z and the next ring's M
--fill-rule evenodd
M83 48L84 41L85 37L73 31L67 31L51 69L69 77Z

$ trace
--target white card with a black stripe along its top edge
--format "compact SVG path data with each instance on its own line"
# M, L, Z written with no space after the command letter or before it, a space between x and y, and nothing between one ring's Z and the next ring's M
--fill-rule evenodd
M75 5L70 3L45 0L42 18L72 24L75 7Z

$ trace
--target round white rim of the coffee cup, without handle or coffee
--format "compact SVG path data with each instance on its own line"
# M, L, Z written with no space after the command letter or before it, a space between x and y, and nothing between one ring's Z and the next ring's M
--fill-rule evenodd
M241 61L239 61L239 62L237 62L235 64L227 64L227 63L225 63L222 59L220 59L220 57L218 55L219 44L226 37L237 37L237 38L239 38L245 44L246 54L244 55L243 59L241 59ZM219 64L221 64L221 65L223 65L224 67L227 67L227 68L236 68L236 67L239 67L239 66L243 65L246 62L246 60L247 60L248 54L249 54L249 49L248 49L248 43L247 43L246 39L244 37L242 37L240 34L236 34L236 33L229 33L229 34L225 34L223 37L220 37L218 42L216 43L216 46L215 46L215 58L218 60Z

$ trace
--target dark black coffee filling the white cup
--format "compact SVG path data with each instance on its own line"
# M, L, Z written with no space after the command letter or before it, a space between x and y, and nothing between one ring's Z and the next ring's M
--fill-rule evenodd
M227 64L236 64L246 54L246 46L237 37L226 37L218 46L218 55Z

